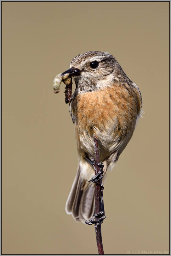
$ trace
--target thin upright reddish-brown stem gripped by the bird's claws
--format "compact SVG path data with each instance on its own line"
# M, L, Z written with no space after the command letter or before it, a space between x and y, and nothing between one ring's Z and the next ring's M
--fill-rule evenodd
M93 136L94 139L94 150L95 150L95 162L99 163L99 150L98 150L98 138ZM100 171L100 167L97 164L93 164L95 175ZM95 186L95 214L98 214L101 211L101 186L100 180L96 182ZM96 241L99 254L104 254L103 251L103 244L102 244L102 237L101 237L101 224L94 225L95 232L96 232Z

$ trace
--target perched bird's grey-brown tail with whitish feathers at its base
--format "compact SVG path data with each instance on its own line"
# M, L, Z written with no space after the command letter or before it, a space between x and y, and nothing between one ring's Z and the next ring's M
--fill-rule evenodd
M95 175L94 168L85 160L80 160L77 174L66 201L66 213L75 221L85 224L94 214L95 183L88 182Z

